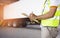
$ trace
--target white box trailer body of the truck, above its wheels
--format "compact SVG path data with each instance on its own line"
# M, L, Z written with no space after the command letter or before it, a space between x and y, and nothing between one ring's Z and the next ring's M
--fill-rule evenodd
M4 19L17 19L27 18L27 16L22 15L25 13L29 16L30 13L34 13L35 15L40 15L41 10L43 9L40 0L20 0L4 7ZM15 22L13 23L15 27ZM8 24L10 26L10 24Z

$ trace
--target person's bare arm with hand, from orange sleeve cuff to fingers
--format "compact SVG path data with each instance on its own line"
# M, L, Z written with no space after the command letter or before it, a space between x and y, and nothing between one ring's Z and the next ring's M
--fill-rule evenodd
M48 13L39 15L39 16L36 16L33 13L31 13L29 16L29 19L30 20L33 20L33 19L43 20L43 19L52 18L52 17L54 17L56 10L57 10L57 6L51 6L50 11Z

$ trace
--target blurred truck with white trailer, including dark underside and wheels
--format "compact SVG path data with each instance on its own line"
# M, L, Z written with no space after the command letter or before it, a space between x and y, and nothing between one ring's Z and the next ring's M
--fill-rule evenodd
M2 23L2 25L8 25L9 27L26 27L26 20L30 13L33 12L37 16L41 14L40 10L42 10L42 7L39 3L39 0L20 0L5 5L3 10L4 23ZM28 16L24 16L22 13Z

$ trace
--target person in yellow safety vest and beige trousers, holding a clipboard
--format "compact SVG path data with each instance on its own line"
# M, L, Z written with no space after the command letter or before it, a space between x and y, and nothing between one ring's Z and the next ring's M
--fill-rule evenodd
M56 38L60 20L60 0L47 0L45 5L42 15L31 13L29 19L41 20L41 38Z

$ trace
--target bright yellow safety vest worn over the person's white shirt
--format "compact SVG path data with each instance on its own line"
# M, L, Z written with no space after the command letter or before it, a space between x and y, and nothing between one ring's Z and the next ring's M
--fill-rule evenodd
M45 11L44 13L47 13L49 9L50 1L48 0L46 3ZM59 25L59 16L60 16L60 5L58 6L58 9L55 13L55 16L53 18L45 19L41 21L42 26L50 26L50 27L57 27Z

